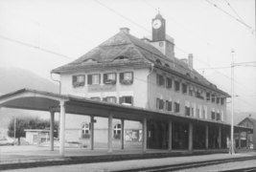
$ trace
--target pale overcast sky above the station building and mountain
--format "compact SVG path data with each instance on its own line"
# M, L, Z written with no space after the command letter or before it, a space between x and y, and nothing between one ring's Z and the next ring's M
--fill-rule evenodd
M51 70L122 27L151 36L158 11L175 38L175 56L194 54L194 68L221 90L231 94L232 55L235 63L253 62L234 68L235 111L256 112L254 0L0 0L0 67L51 79Z

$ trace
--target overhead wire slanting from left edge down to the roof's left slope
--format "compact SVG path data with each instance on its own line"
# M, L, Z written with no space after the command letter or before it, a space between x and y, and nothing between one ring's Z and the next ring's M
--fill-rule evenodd
M70 56L67 56L67 55L64 55L64 54L58 54L58 53L50 51L48 49L44 49L44 48L41 48L39 46L35 46L33 44L29 44L29 43L26 43L26 42L23 42L23 41L20 41L20 40L17 40L17 39L13 39L13 38L10 38L10 37L4 36L4 35L0 35L0 38L11 41L11 42L14 42L14 43L17 43L17 44L20 44L20 45L23 45L23 46L26 46L26 47L30 47L30 48L39 50L41 52L45 52L47 54L55 54L55 55L58 55L58 56L61 56L61 57L64 57L64 58L72 59Z

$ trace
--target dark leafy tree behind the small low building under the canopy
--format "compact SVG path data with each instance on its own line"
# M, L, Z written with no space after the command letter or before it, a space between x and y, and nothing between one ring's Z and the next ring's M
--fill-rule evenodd
M14 137L14 122L15 124L15 138L18 139L18 144L20 145L20 138L25 137L25 129L49 129L50 121L41 118L12 118L8 126L8 136ZM58 122L55 122L54 130L58 131ZM58 136L58 135L57 135Z

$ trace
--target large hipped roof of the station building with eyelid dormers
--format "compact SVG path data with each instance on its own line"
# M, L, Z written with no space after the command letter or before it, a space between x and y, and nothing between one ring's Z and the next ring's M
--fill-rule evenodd
M125 59L125 60L124 60ZM220 92L216 85L199 75L196 70L189 69L188 65L177 59L168 58L150 43L143 41L127 32L118 32L107 39L100 46L83 54L71 63L54 69L52 73L72 73L78 70L103 69L109 67L155 67L180 75L202 86Z

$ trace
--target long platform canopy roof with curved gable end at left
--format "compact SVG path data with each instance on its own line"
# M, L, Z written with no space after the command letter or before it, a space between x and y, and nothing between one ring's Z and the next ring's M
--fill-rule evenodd
M54 93L31 89L21 89L0 97L0 107L36 111L59 112L60 102L65 102L65 112L68 114L78 114L103 118L108 118L108 116L111 114L113 118L123 118L137 121L142 121L143 118L165 121L168 119L174 119L178 121L197 122L198 124L207 123L209 125L226 127L230 126L228 123L221 121L213 121L203 118L193 118L178 114L169 114L134 106L93 100L85 97L58 95ZM251 130L244 126L236 127Z

